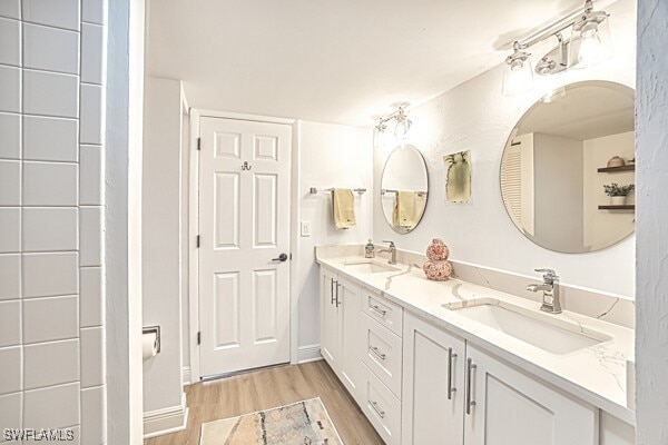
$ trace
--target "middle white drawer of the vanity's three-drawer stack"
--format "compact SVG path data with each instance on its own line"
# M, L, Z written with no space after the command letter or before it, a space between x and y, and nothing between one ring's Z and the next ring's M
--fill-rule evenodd
M362 362L401 399L402 339L373 318L362 318L366 342Z

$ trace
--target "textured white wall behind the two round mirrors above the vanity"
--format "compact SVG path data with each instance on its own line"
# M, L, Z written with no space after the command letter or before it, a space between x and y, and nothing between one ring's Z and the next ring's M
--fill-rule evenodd
M411 110L413 128L409 144L425 155L430 169L430 200L420 226L397 236L385 222L374 200L374 238L395 239L400 248L424 251L433 237L450 246L452 257L520 274L534 267L552 267L570 285L609 291L632 298L635 238L609 249L579 255L552 253L532 244L511 222L499 190L501 154L511 129L524 111L557 86L579 80L603 79L635 86L636 11L633 0L620 0L609 8L615 57L588 70L573 70L539 79L539 89L507 98L501 95L502 66ZM539 53L532 48L533 53ZM500 60L501 62L501 60ZM471 150L471 202L445 200L442 156ZM374 150L374 189L387 147Z

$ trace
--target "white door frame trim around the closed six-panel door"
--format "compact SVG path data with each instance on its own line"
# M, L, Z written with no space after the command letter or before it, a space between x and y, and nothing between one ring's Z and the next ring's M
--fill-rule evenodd
M299 122L295 119L274 118L268 116L244 115L227 111L214 111L190 108L190 147L189 147L189 178L188 178L188 344L190 358L190 383L199 382L199 345L197 344L197 333L199 332L199 253L197 251L197 235L199 233L199 151L197 150L197 139L199 138L199 119L203 117L213 117L222 119L249 120L254 122L283 123L292 127L293 140L291 146L289 164L289 221L288 236L291 253L297 253L298 233L293 227L293 221L298 220L297 196L298 185L298 135ZM297 363L297 295L296 273L297 267L291 260L289 263L289 362Z

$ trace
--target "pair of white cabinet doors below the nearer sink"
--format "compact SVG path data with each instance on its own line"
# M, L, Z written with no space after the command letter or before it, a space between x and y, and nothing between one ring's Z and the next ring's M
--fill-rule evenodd
M402 444L597 445L598 409L404 317Z

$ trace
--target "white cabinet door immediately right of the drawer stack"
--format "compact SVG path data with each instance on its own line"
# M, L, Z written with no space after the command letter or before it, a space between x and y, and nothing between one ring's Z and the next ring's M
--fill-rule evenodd
M403 338L402 445L463 444L464 340L409 314Z

